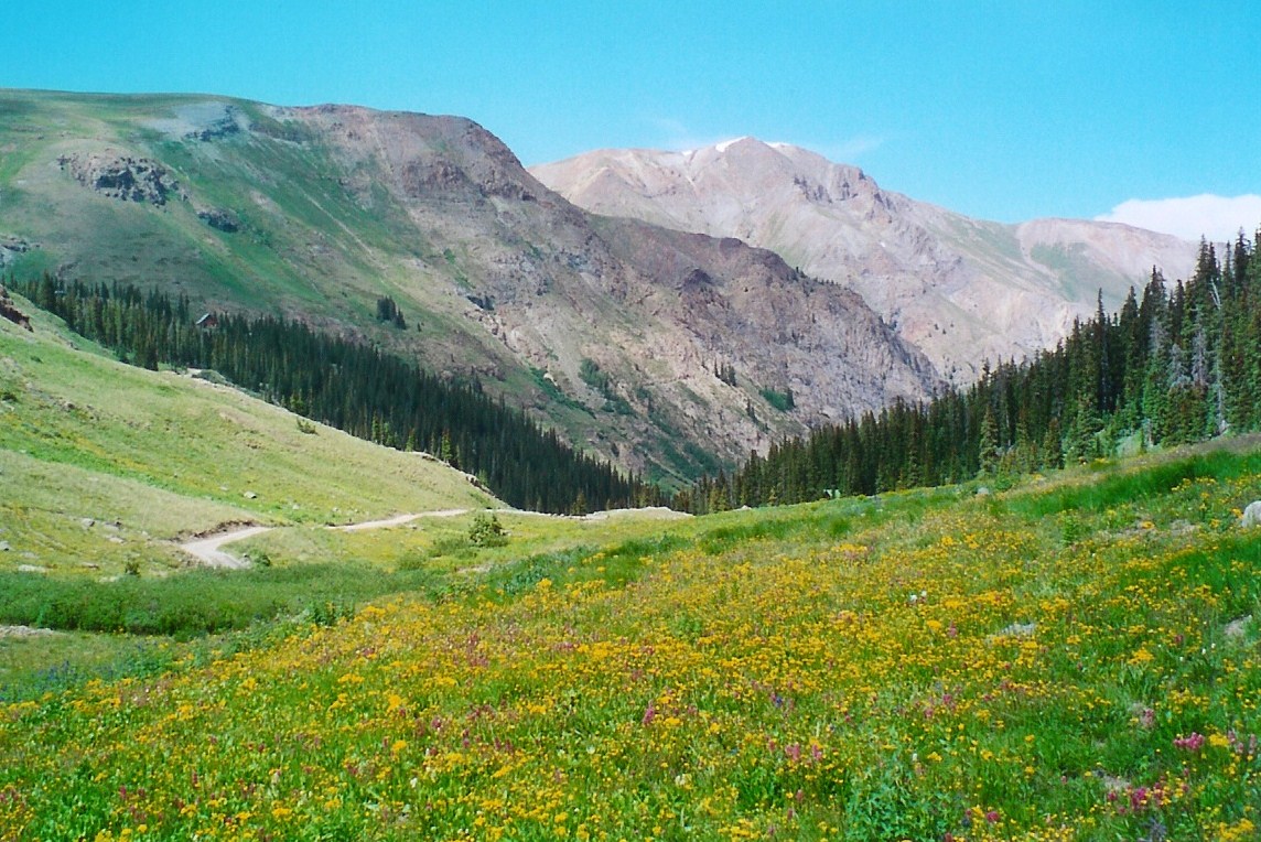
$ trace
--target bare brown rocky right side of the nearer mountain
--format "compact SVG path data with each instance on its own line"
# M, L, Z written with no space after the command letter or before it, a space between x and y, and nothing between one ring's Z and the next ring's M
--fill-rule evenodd
M330 139L347 171L373 173L366 183L378 188L392 180L422 236L459 255L465 318L595 410L586 444L609 455L642 466L660 449L682 469L687 450L747 454L936 387L932 366L860 297L735 239L593 217L473 122L362 108L289 116ZM607 386L584 379L584 363ZM721 364L734 383L714 373ZM777 411L765 389L791 391L796 408ZM670 455L677 446L681 458Z

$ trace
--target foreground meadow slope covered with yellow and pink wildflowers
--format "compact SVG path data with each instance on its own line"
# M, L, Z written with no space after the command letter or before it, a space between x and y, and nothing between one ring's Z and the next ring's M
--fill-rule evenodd
M973 492L346 533L433 587L0 706L0 837L1255 838L1258 444Z

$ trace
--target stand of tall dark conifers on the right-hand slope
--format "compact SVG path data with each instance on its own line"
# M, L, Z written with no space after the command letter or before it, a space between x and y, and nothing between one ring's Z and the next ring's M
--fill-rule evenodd
M1261 430L1261 257L1241 234L1223 261L1202 243L1194 275L1173 291L1153 270L1141 301L1131 289L1111 318L1101 303L1054 350L986 366L965 392L772 445L675 505L701 513L875 494L1250 430Z

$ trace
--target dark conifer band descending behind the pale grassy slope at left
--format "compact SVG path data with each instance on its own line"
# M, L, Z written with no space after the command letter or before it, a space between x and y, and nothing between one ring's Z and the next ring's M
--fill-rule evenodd
M289 410L400 450L426 450L501 499L540 512L660 502L660 492L576 453L523 412L353 342L275 318L217 315L200 329L185 297L135 286L9 285L135 366L208 368Z

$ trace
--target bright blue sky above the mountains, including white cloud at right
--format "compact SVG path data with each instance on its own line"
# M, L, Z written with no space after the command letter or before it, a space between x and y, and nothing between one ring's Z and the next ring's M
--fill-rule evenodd
M753 135L1002 222L1261 223L1255 0L10 0L4 29L4 87L458 113L526 164Z

